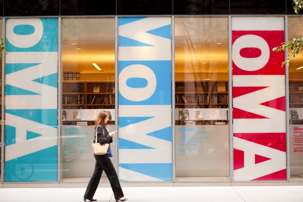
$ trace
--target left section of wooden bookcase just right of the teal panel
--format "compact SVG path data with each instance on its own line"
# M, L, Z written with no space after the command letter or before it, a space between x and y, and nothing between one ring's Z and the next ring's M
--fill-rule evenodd
M62 109L85 108L85 81L62 81Z

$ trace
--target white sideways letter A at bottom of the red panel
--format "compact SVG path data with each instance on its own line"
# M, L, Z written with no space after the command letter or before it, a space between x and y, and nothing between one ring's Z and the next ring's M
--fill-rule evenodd
M233 144L234 148L244 151L245 165L245 167L234 171L234 180L253 180L286 168L286 155L284 151L256 144L238 137L233 137ZM255 154L271 159L255 164Z

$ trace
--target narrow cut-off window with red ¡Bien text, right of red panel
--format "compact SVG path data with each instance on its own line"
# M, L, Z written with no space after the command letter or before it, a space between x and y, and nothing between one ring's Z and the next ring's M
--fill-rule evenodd
M301 38L302 17L288 17L288 40ZM291 50L289 50L290 54ZM303 57L289 63L289 161L290 180L303 180Z

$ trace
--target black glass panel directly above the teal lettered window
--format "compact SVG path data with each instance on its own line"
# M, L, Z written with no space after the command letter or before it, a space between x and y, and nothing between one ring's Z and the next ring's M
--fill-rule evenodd
M5 1L4 15L5 16L59 15L59 0Z

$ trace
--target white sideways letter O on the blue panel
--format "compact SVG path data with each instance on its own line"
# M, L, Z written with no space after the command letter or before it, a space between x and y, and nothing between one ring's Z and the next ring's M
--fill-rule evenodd
M145 78L147 86L144 88L131 88L126 85L129 78ZM154 94L157 85L155 73L145 65L129 65L119 74L119 92L131 101L143 101Z

